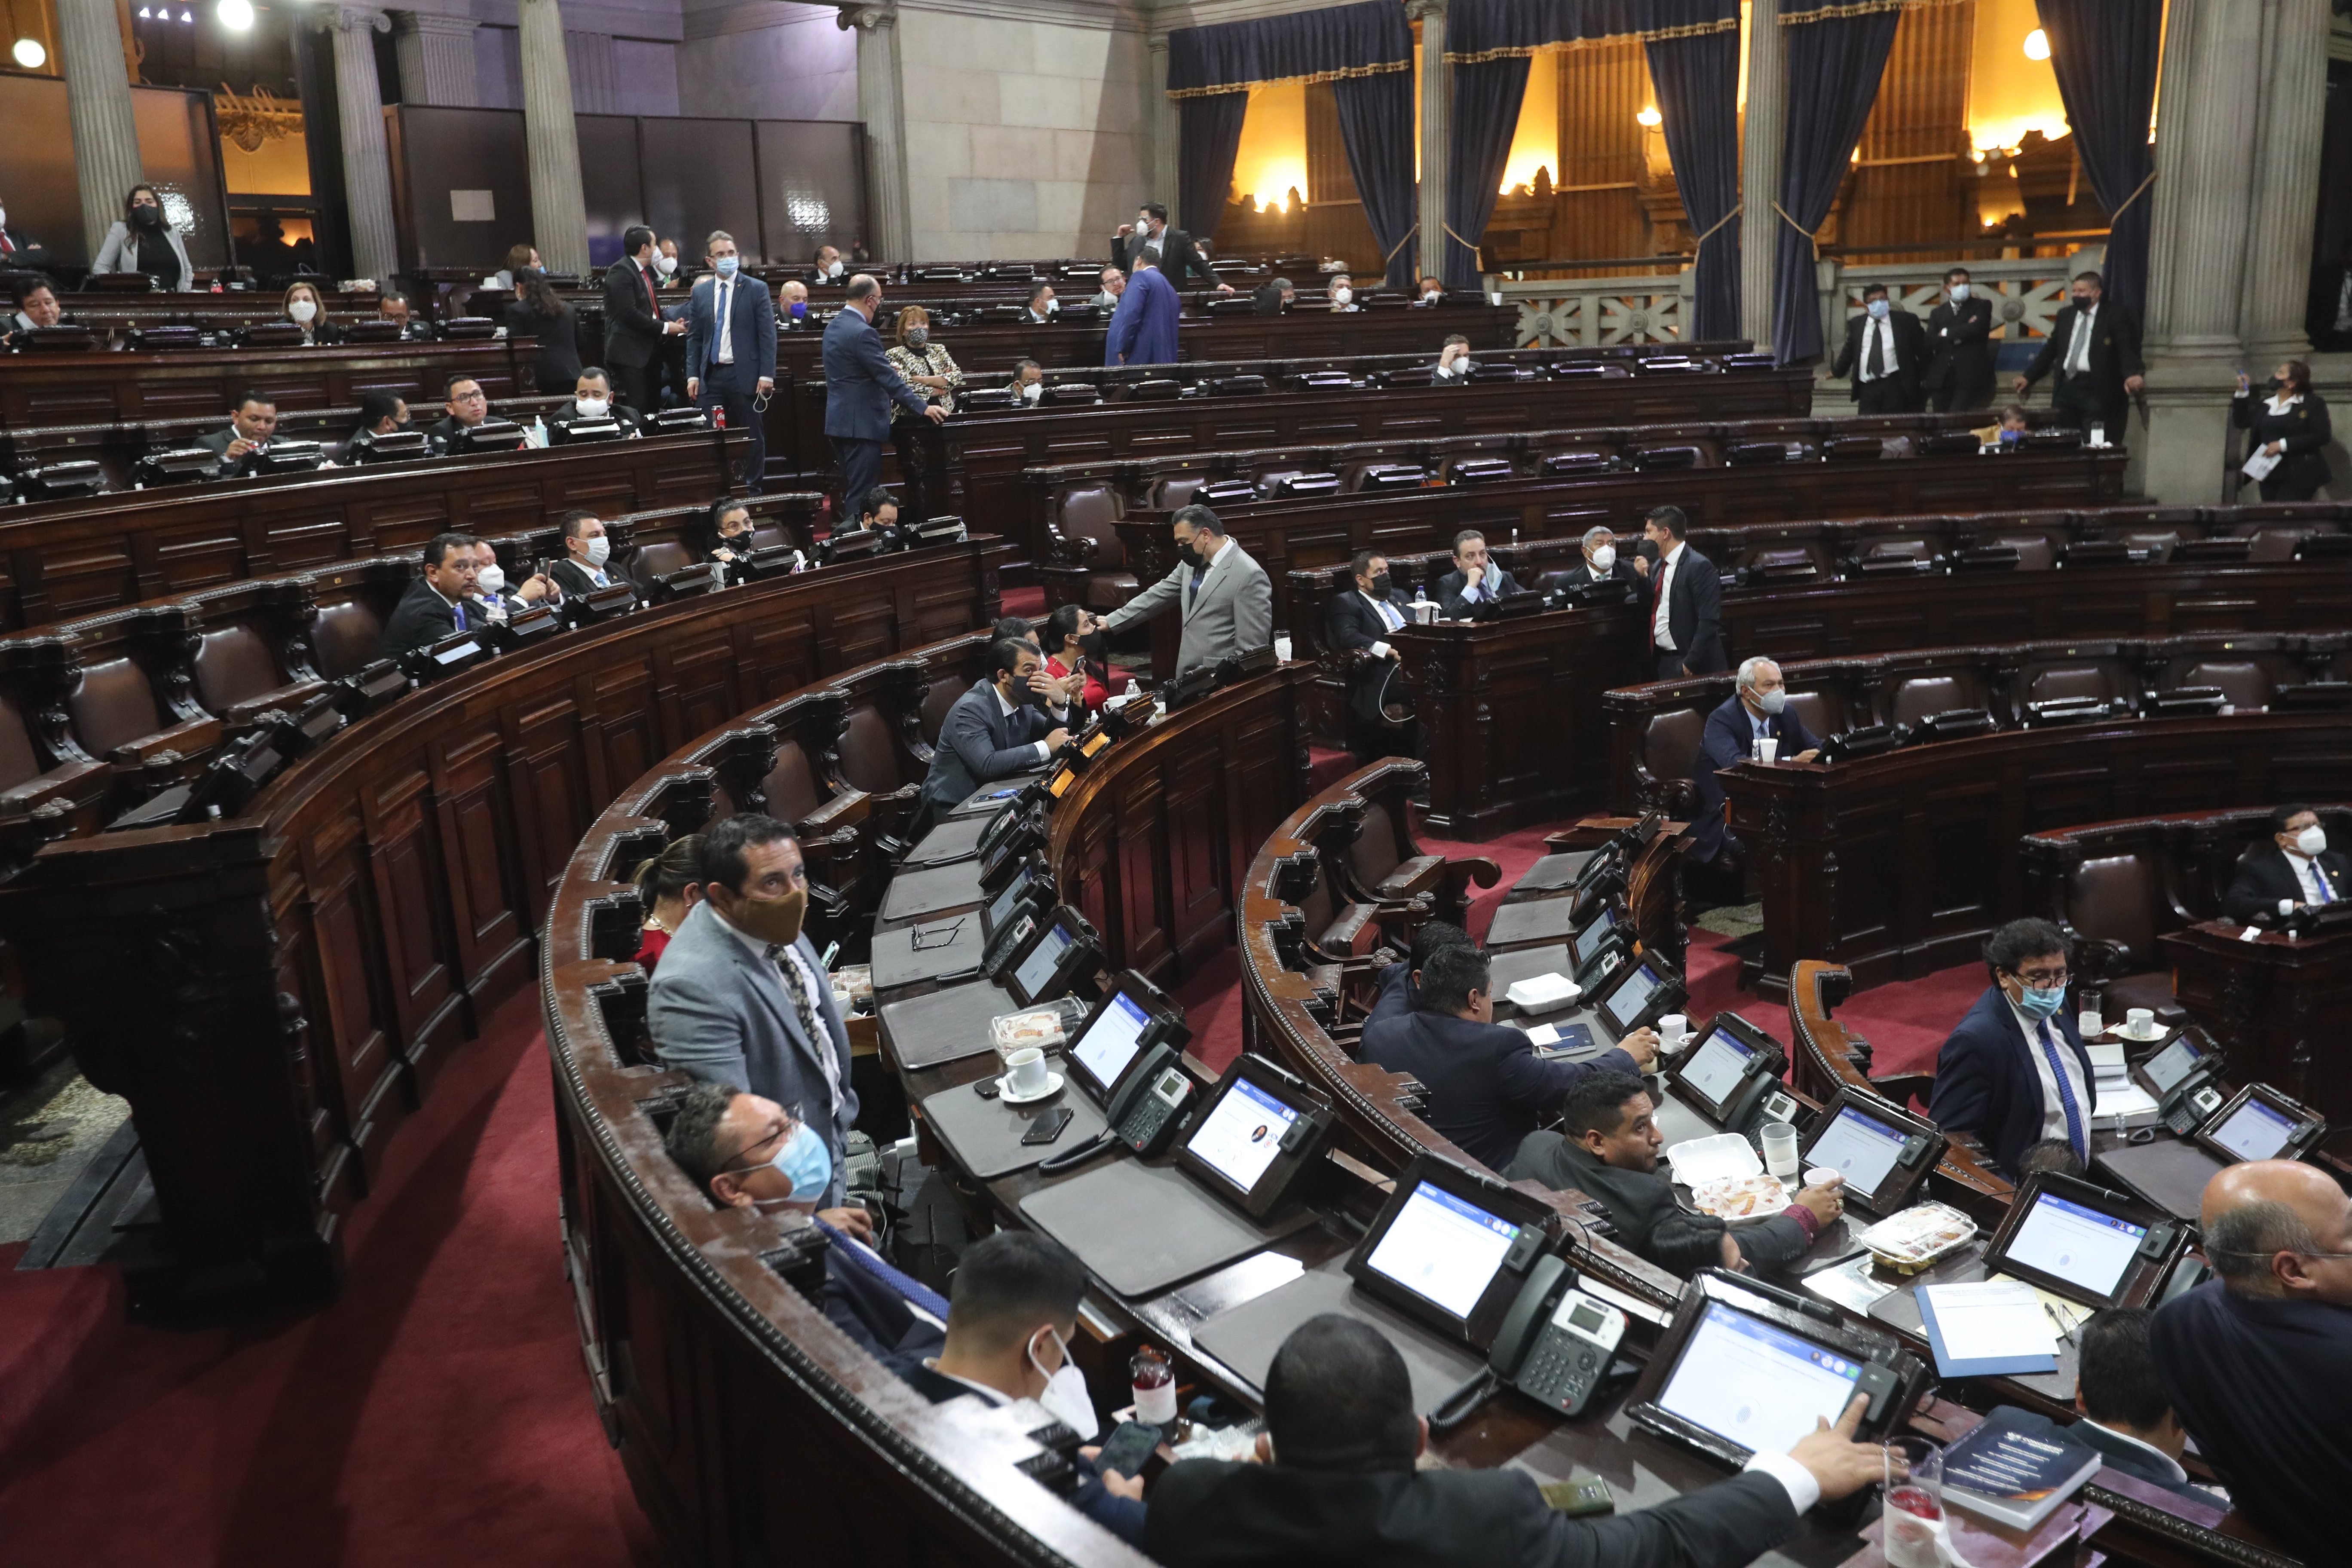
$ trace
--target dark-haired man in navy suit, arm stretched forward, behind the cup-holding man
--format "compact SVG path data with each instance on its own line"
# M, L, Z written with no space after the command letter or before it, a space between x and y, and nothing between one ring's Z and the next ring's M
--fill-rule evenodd
M1432 952L1421 966L1421 1006L1367 1025L1359 1060L1421 1079L1428 1124L1470 1159L1501 1171L1519 1140L1557 1114L1576 1079L1597 1067L1646 1072L1658 1034L1635 1030L1590 1063L1545 1060L1522 1030L1494 1020L1486 969L1477 947Z

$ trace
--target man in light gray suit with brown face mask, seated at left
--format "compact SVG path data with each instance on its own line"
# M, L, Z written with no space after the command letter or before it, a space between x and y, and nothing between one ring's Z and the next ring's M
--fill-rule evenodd
M833 1171L818 1211L833 1208L858 1091L849 1084L849 1030L800 931L809 912L800 844L771 816L729 816L703 832L703 903L654 971L654 1051L666 1067L774 1100L821 1133Z

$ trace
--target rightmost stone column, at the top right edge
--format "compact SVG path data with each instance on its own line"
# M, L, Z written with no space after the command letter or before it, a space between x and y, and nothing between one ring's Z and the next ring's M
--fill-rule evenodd
M2310 357L2303 313L2312 287L2319 143L2328 113L2328 0L2265 0L2260 132L2239 336L2260 381L2279 360Z

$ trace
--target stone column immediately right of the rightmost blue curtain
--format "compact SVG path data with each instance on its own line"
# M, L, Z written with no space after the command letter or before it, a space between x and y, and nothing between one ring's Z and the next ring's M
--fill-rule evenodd
M2249 0L2171 0L2164 26L2157 183L2140 197L2157 205L2147 237L2147 428L2131 435L2140 491L2171 505L2237 496L2223 480L2223 454L2244 357L2265 12Z

